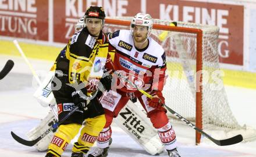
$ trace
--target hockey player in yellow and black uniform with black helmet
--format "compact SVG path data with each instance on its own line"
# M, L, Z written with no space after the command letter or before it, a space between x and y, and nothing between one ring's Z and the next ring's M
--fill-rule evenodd
M52 92L58 105L59 121L75 106L78 105L79 110L61 123L45 157L60 157L85 122L72 148L73 157L83 156L93 146L105 125L99 96L90 100L90 103L84 98L95 91L97 86L105 90L111 88L112 76L105 76L103 70L108 54L108 41L102 32L104 19L105 12L101 7L88 8L84 17L85 27L72 36L66 50L62 50L56 61Z

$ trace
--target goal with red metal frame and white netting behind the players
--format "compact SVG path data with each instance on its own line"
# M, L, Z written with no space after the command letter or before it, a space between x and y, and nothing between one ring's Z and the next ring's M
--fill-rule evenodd
M129 30L130 20L131 17L109 17L104 32ZM240 126L232 114L223 86L217 45L219 28L183 22L170 27L170 23L154 19L151 32L166 53L169 75L163 90L166 105L198 128L218 134L216 138L221 138L219 133L226 137L242 133L248 137L246 126ZM175 119L169 112L168 116ZM255 131L252 132L255 136ZM195 137L195 142L200 143L201 134L196 132Z

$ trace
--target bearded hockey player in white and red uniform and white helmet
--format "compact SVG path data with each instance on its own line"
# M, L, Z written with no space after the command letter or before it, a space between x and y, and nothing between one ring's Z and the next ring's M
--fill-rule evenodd
M129 99L138 98L147 112L148 118L164 145L168 155L179 157L177 152L176 134L163 108L165 98L162 95L166 79L166 56L163 48L150 37L152 18L150 14L138 13L131 20L130 30L118 30L108 35L109 50L115 51L115 57L108 60L106 68L115 71L115 74L128 78L140 89L150 93L149 99L140 93L126 79L116 78L112 90L105 92L101 97L101 104L105 108L106 125L97 138L97 148L88 157L107 156L112 142L111 123L125 107ZM129 118L127 118L129 119ZM130 118L139 132L144 128L136 118Z

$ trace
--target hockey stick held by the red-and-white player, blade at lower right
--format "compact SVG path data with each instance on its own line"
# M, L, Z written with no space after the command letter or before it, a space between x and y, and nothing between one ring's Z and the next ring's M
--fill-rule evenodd
M120 74L116 71L114 71L114 74L116 74L119 78L125 79L126 82L130 83L130 85L132 85L134 88L136 88L139 92L143 93L148 98L152 98L152 96L150 94L148 94L147 92L145 92L142 89L139 89L138 86L135 85L133 82L131 82L126 76L123 76L122 74ZM212 138L211 136L209 136L209 134L205 133L203 130L196 127L193 123L188 121L186 118L177 114L177 112L175 112L173 109L169 108L167 105L165 105L165 104L163 104L163 105L164 105L164 107L166 107L166 109L168 109L168 111L170 113L175 115L177 118L179 118L181 121L183 121L184 123L186 123L187 125L189 125L193 129L197 130L197 132L200 132L202 135L204 135L205 137L207 137L209 140L211 140L212 142L214 142L217 145L221 145L221 146L232 145L232 144L237 144L237 143L240 143L241 141L243 141L243 136L241 136L241 134L238 134L234 137L227 138L225 140L216 140L215 138Z

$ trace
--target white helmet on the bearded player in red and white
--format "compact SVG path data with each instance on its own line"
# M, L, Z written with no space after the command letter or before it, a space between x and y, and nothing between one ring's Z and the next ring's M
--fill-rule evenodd
M133 17L131 20L131 32L134 25L142 25L148 27L148 36L150 35L150 32L152 30L153 26L153 20L150 14L144 14L144 13L137 13L136 16Z

